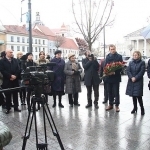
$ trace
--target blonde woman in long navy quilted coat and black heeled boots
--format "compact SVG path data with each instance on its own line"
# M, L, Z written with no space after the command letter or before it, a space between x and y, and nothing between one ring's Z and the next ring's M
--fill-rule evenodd
M129 63L127 68L128 84L126 94L133 99L134 108L131 114L137 112L137 100L141 107L141 115L145 114L143 106L143 76L145 73L145 62L141 60L141 53L134 51L133 60Z

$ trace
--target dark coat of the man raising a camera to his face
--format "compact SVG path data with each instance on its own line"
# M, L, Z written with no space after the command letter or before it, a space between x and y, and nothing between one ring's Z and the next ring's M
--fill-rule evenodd
M97 60L89 61L88 58L82 60L82 66L84 68L85 76L84 76L84 84L86 86L99 85L99 64Z

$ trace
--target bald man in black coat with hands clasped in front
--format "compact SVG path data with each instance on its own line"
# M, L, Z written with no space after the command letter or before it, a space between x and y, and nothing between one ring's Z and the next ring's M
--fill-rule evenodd
M13 51L6 50L6 56L0 60L0 72L3 75L3 89L18 87L18 76L20 67L17 59L13 58ZM9 91L6 94L6 114L11 109L11 96L13 97L14 111L20 112L18 109L18 91Z

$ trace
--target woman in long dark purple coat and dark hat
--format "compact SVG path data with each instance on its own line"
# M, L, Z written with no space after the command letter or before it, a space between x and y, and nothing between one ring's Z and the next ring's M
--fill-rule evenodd
M54 71L54 81L52 82L52 94L54 99L53 107L56 106L56 96L59 98L59 107L64 108L61 103L62 95L64 95L64 82L65 82L65 74L64 67L65 61L61 59L61 51L55 51L55 57L51 60L51 62L55 62L56 65L50 67L50 70Z

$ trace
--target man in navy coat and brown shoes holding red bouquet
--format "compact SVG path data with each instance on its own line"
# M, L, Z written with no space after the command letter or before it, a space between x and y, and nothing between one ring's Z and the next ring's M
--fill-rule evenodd
M106 56L105 66L107 64L113 62L122 62L122 56L117 53L115 45L109 46L110 53ZM121 82L121 69L111 72L108 77L106 77L106 82L108 85L108 95L109 95L109 106L106 110L113 109L114 104L114 97L115 97L115 104L116 104L116 112L119 112L119 104L120 104L120 95L119 95L119 88ZM114 93L114 95L112 94Z

